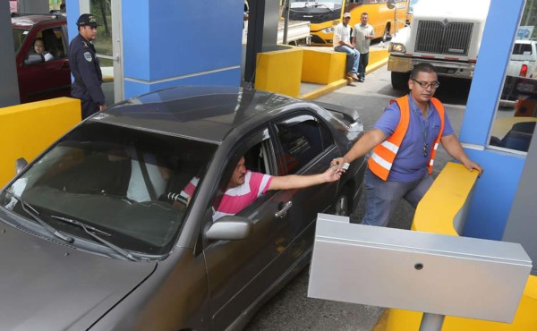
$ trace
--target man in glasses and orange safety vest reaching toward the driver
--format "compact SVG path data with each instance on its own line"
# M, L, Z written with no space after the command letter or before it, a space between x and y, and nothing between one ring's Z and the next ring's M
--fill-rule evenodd
M436 69L431 64L416 64L408 88L410 94L388 106L344 157L332 160L340 169L373 149L364 178L364 225L388 225L403 198L416 208L433 182L430 174L439 142L469 171L482 173L482 167L466 156L442 103L432 98L439 88Z

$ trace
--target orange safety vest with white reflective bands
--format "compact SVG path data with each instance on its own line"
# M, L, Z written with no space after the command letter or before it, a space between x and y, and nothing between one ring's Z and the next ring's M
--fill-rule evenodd
M401 119L397 124L396 131L384 140L381 144L373 149L373 153L369 158L368 165L373 174L376 174L382 180L388 180L389 171L396 159L397 151L401 147L401 142L405 138L406 131L408 130L408 123L410 123L410 105L408 95L405 97L392 100L396 102L401 111ZM439 148L439 141L442 138L442 132L444 132L444 106L438 98L430 98L430 102L437 109L440 115L440 131L439 136L434 141L432 150L430 151L429 159L429 174L432 174L432 165L434 163L434 157L436 151Z

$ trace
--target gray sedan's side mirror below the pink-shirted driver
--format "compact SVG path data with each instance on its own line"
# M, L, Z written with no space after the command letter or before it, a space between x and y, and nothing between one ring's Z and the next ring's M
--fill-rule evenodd
M243 240L253 233L251 220L242 216L219 218L205 233L209 240Z

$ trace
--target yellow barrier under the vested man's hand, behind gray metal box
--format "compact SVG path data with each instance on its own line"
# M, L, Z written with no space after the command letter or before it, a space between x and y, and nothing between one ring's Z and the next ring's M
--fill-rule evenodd
M447 163L416 208L415 231L458 235L464 227L465 206L471 197L477 172ZM458 229L458 231L457 231ZM537 330L537 276L529 276L512 324L470 318L446 317L442 331L534 331ZM422 313L386 310L375 331L417 331Z

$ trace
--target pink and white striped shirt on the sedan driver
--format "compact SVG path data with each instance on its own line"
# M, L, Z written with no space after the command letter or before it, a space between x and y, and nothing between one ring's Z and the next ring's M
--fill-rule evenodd
M181 192L183 198L192 197L200 178L194 177ZM269 174L253 173L250 170L246 171L244 182L242 185L231 188L224 193L224 197L213 214L213 221L226 215L235 215L239 211L246 208L251 202L258 199L262 194L268 191L272 176Z

